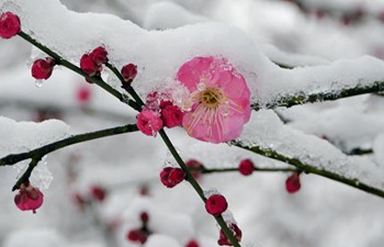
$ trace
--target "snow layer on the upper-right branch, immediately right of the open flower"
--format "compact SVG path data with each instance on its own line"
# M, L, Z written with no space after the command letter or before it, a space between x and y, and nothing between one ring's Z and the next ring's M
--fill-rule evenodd
M318 92L338 94L346 88L368 87L384 80L384 63L370 56L340 59L327 66L297 67L292 70L264 69L258 77L256 99L261 105L273 104L284 96L305 97Z

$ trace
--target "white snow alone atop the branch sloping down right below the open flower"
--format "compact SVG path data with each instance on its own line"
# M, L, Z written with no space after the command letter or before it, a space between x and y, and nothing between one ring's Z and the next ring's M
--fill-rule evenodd
M320 170L384 189L384 167L366 157L347 156L325 139L283 125L271 110L253 113L238 141L241 146L271 149Z

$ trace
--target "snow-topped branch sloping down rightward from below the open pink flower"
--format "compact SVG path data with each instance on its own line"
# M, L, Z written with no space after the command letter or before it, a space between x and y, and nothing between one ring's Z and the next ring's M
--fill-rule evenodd
M384 197L384 167L366 157L347 156L327 141L293 130L272 111L253 114L237 146Z

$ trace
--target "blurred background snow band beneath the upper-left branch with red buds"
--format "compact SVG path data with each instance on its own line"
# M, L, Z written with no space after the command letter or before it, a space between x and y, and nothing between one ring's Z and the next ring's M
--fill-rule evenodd
M3 70L1 80L4 81L0 90L1 104L18 99L23 108L58 111L67 109L79 114L109 113L110 117L125 121L129 121L133 112L131 111L131 114L127 115L129 109L126 105L111 98L106 92L97 90L95 86L83 86L83 78L60 69L60 67L54 69L53 76L43 82L42 88L35 86L35 80L31 77L30 66L26 67L23 63ZM89 102L86 104L77 99L77 92L82 86L88 87L91 93Z

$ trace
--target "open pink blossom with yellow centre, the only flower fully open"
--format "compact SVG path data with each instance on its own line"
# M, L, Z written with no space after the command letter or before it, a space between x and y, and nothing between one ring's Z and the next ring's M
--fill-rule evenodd
M190 136L224 143L240 135L250 117L250 91L225 58L194 57L180 67L177 79L190 92L191 110L182 121Z

